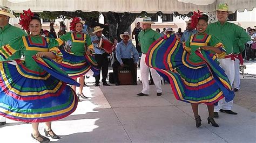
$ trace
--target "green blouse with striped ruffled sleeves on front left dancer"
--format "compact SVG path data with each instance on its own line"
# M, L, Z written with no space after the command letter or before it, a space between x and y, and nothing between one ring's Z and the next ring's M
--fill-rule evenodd
M23 53L25 60L23 65L26 68L33 71L43 71L40 68L35 60L32 59L33 55L36 55L37 52L53 52L56 54L57 62L62 61L62 53L56 47L58 41L52 38L46 38L40 36L23 36L18 37L9 42L8 45L0 47L0 61L9 61L12 59L12 56L18 52Z

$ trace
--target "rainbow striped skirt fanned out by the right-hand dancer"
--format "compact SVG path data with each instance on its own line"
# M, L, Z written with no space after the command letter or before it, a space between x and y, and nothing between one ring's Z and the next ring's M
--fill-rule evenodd
M146 64L170 83L179 101L214 104L224 97L232 101L234 92L217 56L199 49L196 54L204 61L193 63L175 36L165 35L150 46Z

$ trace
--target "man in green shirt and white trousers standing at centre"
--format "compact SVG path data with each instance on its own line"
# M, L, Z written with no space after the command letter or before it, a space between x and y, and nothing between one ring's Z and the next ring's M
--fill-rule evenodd
M151 22L150 17L144 18L142 22L143 31L140 31L138 35L139 44L142 47L142 57L140 59L140 75L142 75L143 85L143 90L142 92L137 94L138 96L149 95L149 70L151 71L154 85L156 85L157 88L157 96L161 96L162 92L160 75L157 73L156 70L149 68L145 63L146 53L149 50L150 45L161 37L160 33L152 30L151 24L154 23Z

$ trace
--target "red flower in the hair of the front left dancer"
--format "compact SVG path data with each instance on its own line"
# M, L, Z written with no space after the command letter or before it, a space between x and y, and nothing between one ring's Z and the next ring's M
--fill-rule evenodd
M29 23L32 20L32 17L34 16L34 13L31 12L31 10L23 10L24 13L21 13L19 16L21 19L19 19L19 25L22 26L22 28L26 31L29 31Z

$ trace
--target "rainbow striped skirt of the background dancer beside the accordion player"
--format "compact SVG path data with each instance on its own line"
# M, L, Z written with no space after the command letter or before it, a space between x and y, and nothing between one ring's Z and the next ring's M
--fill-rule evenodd
M99 69L94 56L76 56L64 50L60 51L63 54L63 60L62 63L56 63L56 65L65 70L70 77L77 78L83 76L90 70L93 72L93 76L99 75Z

